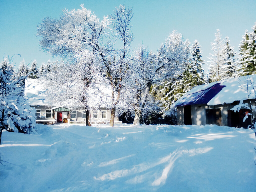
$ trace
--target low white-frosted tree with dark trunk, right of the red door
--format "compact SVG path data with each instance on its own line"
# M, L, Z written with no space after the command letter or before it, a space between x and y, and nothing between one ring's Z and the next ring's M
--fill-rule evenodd
M40 77L51 105L85 110L86 125L89 126L91 126L90 110L95 110L95 107L90 104L91 98L98 96L99 88L96 83L100 81L99 78L102 78L101 68L97 62L99 60L95 55L85 50L77 53L76 62L62 60L52 63L52 67L58 70L51 70Z

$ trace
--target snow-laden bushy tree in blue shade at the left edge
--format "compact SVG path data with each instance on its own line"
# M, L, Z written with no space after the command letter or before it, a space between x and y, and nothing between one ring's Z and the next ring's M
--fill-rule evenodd
M12 64L7 58L0 63L0 144L2 131L30 134L36 123L35 109L30 108L23 96L20 82L24 76L14 75Z

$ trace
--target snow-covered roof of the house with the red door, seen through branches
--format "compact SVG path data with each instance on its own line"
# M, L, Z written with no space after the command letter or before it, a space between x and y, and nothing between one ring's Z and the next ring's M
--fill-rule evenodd
M47 100L47 95L45 94L46 88L39 79L26 79L25 81L25 98L27 99L29 105L40 105L40 106L52 106L51 102ZM90 87L88 90L92 97L88 100L89 106L95 108L109 108L111 106L111 88L104 87L97 84ZM67 100L68 103L72 105L70 99ZM56 106L58 108L60 106Z

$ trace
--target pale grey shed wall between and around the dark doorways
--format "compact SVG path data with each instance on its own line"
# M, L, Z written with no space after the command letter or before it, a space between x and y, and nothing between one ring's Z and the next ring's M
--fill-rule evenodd
M249 104L249 100L245 100ZM252 105L255 105L255 101L251 100ZM220 109L221 110L221 125L228 126L228 110L232 109L237 103L223 105L208 106L206 104L191 105L191 120L193 125L206 125L206 109ZM255 117L255 112L252 112ZM178 125L184 125L184 107L177 107L177 123Z

